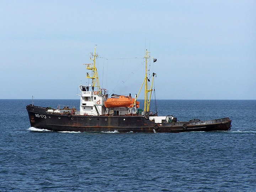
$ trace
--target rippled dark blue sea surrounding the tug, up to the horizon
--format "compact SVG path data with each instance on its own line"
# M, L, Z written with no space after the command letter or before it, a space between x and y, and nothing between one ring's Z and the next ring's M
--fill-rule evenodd
M179 121L232 119L229 131L189 133L40 131L30 103L0 100L0 191L256 191L256 100L157 100ZM58 104L79 109L34 100Z

